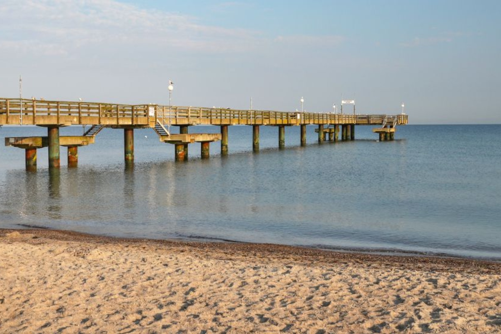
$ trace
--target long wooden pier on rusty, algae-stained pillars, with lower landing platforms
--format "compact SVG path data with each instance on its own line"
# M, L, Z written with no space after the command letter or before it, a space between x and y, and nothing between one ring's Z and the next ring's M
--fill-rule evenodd
M306 145L306 126L316 125L318 141L355 139L355 125L378 125L373 132L380 141L393 140L397 125L405 125L408 117L399 115L348 115L334 113L280 112L236 110L225 108L179 107L156 104L124 105L94 102L45 101L0 98L0 126L37 125L47 128L44 137L7 137L6 146L25 149L26 169L36 170L37 149L49 148L49 168L60 167L60 146L68 148L68 167L78 165L78 147L93 144L103 128L124 131L124 161L134 161L134 129L151 128L161 142L175 145L175 160L188 159L189 144L201 143L201 158L210 155L210 143L219 141L221 155L228 154L228 126L248 125L253 132L253 150L259 151L260 126L279 129L278 147L285 147L285 127L301 127L301 145ZM60 136L65 126L90 126L82 136ZM189 133L189 126L213 125L220 133ZM170 127L179 127L179 134Z

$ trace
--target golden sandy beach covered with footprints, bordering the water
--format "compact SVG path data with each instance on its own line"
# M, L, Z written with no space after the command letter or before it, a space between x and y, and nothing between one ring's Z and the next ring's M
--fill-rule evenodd
M500 272L462 259L0 230L0 332L501 332Z

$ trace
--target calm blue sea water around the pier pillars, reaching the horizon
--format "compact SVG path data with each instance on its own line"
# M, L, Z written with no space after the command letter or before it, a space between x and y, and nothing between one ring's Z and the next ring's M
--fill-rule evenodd
M82 127L61 129L81 134ZM190 127L217 132L218 127ZM372 127L357 140L317 143L308 127L229 128L227 157L174 147L151 129L135 130L135 164L123 163L123 131L105 129L79 149L79 167L25 171L24 151L0 146L0 227L45 226L138 238L235 240L327 249L447 254L501 260L501 125L408 125L378 142ZM0 137L46 135L2 127Z

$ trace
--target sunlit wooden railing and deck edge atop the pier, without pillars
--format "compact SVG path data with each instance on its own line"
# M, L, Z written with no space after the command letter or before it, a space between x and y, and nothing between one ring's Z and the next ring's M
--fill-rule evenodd
M160 105L124 105L94 102L45 101L0 98L2 124L107 124L151 126L164 124L382 124L386 115L299 113ZM407 115L392 116L407 124Z

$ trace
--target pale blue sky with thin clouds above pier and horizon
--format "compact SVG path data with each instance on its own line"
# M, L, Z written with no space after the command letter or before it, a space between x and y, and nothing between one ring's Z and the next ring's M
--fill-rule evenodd
M2 0L0 97L501 123L501 1ZM345 113L353 107L344 106Z

